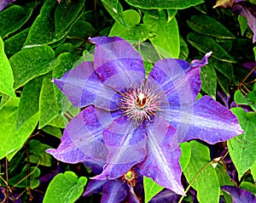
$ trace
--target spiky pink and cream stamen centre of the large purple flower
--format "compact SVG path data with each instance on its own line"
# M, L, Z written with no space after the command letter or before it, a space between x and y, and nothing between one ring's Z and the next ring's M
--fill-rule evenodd
M131 118L137 125L144 120L151 121L151 116L155 116L160 111L161 93L147 83L139 87L127 88L119 94L121 99L117 104L124 115Z

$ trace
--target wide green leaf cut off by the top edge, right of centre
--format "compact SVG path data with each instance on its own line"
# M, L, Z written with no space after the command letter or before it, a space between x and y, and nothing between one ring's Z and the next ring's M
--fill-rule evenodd
M158 9L158 8L172 8L172 9L183 9L195 6L199 3L203 3L203 0L187 0L187 1L161 1L161 0L125 0L131 6L145 9Z

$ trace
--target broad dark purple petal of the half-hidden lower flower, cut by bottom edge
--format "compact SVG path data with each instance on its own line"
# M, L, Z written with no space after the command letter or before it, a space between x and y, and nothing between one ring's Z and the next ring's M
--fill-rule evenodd
M108 181L103 185L101 203L119 203L125 200L127 191L119 180Z

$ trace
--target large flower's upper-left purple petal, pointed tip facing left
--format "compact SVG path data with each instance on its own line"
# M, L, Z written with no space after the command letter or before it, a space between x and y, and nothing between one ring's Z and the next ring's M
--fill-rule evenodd
M84 61L54 82L75 107L94 104L106 110L118 109L114 98L116 91L102 84L91 61Z

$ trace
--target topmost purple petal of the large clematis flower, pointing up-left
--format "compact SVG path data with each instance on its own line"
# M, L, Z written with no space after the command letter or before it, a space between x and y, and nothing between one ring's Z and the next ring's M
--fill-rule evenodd
M119 37L95 37L95 70L100 80L117 90L139 84L145 77L143 59L129 42Z

